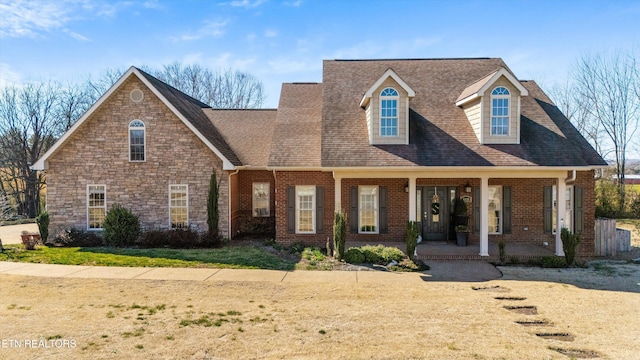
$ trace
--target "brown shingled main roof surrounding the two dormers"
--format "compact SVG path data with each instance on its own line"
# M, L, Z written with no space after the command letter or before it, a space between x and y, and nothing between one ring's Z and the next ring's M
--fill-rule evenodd
M363 94L393 69L416 96L409 103L409 145L370 145ZM323 70L322 166L606 165L535 82L521 82L521 141L482 145L455 105L465 89L506 64L499 58L328 60ZM480 79L480 80L479 80Z

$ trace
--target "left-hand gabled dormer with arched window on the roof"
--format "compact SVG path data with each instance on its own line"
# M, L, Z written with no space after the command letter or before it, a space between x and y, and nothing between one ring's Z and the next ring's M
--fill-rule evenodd
M360 107L367 117L369 144L409 144L409 100L415 96L392 69L367 90Z

